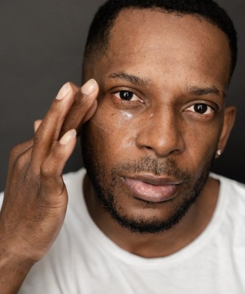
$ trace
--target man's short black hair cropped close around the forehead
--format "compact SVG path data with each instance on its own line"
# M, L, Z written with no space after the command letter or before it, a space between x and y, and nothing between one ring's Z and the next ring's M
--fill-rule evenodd
M110 29L120 11L125 8L155 8L165 13L193 14L205 18L220 28L228 38L231 52L230 77L232 76L237 61L237 33L226 11L213 0L108 0L98 9L90 26L84 63L97 50L101 52L107 48Z

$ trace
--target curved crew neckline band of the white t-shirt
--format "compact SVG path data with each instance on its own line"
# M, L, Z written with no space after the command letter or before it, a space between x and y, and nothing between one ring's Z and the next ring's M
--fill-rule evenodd
M229 185L227 185L226 178L217 175L215 173L210 173L210 176L220 181L220 190L218 195L218 200L216 204L216 208L214 210L213 216L205 229L193 240L190 244L186 245L185 247L181 248L180 250L172 253L171 255L164 256L164 257L153 257L153 258L146 258L142 256L138 256L131 252L126 251L116 243L114 243L109 237L107 237L97 226L97 224L91 218L85 199L83 194L83 179L86 174L86 170L82 169L79 171L79 185L80 185L80 199L82 201L82 210L83 210L83 221L86 221L93 238L97 240L98 244L103 247L103 250L107 251L108 254L112 254L116 256L118 259L121 259L124 263L139 265L144 267L151 267L151 266L169 266L174 263L179 263L183 261L193 254L196 251L203 248L206 243L210 240L210 238L215 234L218 230L222 220L223 214L225 212L225 208L228 202L228 190Z

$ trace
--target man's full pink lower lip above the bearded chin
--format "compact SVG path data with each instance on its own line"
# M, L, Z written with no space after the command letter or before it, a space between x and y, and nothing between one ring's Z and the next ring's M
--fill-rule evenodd
M124 178L124 182L137 198L148 202L157 203L170 200L177 192L177 184L152 185L129 178Z

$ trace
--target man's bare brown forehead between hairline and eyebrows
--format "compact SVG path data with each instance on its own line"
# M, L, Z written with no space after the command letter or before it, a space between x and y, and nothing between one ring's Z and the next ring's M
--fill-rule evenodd
M178 79L196 77L222 88L229 77L226 35L201 17L124 9L110 31L103 74L117 71Z

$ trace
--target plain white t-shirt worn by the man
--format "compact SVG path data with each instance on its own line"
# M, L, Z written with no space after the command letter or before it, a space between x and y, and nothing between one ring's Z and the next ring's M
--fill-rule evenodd
M84 175L82 169L64 176L64 225L20 294L245 293L245 185L211 174L221 188L206 229L170 256L143 258L113 243L93 222L82 193Z

